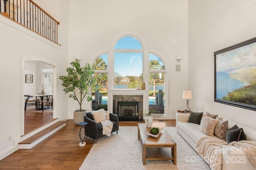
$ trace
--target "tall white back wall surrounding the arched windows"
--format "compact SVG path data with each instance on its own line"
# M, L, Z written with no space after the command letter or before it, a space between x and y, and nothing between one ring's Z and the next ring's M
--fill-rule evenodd
M121 35L135 35L141 39L145 51L154 52L165 61L166 76L170 80L169 101L165 101L169 107L167 115L175 119L176 110L186 107L186 100L182 99L188 73L186 1L120 0L108 3L95 0L86 3L70 0L69 20L69 62L75 55L81 55L81 64L92 64L98 55L111 51L112 43ZM182 55L180 72L175 72L176 55ZM78 109L78 104L72 99L68 104L69 117L73 117L72 112ZM83 107L91 110L88 102Z

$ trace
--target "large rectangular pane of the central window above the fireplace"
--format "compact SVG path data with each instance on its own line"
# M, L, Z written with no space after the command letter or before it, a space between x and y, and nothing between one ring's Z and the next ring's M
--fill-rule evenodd
M114 53L114 88L137 88L143 53Z

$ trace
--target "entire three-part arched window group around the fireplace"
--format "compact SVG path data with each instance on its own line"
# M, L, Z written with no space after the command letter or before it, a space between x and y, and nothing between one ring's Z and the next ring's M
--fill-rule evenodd
M93 109L104 108L102 104L111 104L112 101L108 101L108 80L111 80L110 99L112 99L113 93L122 94L123 90L127 94L132 90L132 95L136 95L138 92L143 93L144 97L148 96L148 103L146 99L144 104L152 113L164 113L166 74L164 62L158 55L145 53L144 50L138 38L124 36L114 44L111 56L103 54L97 57L93 68L95 76L98 77L99 90L93 96L95 99L92 102ZM147 62L148 65L145 65ZM142 85L145 80L148 81L148 89L146 89L148 95L143 91L134 92L133 90L137 89L138 84ZM144 104L143 107L146 107Z

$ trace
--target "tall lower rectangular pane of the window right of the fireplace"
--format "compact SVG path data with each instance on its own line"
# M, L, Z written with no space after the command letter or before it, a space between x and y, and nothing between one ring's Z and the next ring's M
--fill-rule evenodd
M164 113L164 73L149 73L149 110Z

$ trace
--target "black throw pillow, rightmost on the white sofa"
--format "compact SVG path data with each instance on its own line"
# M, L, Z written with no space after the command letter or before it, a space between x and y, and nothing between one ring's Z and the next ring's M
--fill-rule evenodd
M243 128L239 128L237 125L234 125L230 129L228 129L226 134L226 140L228 143L233 141L242 141L246 140L246 134L243 131Z

